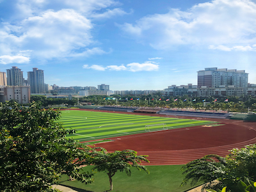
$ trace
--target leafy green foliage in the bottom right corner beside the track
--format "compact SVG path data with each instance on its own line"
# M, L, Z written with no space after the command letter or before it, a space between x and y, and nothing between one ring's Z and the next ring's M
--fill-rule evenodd
M215 159L212 159L214 157ZM256 179L256 144L230 150L227 157L209 155L189 162L182 167L186 174L182 185L193 185L198 181L218 180L215 187L236 191L237 184L244 180Z

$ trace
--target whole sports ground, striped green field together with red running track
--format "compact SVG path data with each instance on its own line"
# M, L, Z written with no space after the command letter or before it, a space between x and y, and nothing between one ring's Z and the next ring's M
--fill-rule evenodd
M164 114L68 109L61 111L68 135L109 152L132 149L148 155L145 165L186 164L207 154L226 156L228 150L256 143L255 122L209 118L205 115Z

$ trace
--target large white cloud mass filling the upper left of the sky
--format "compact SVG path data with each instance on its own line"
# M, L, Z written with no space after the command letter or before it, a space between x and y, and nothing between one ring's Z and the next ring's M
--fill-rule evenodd
M126 14L106 10L120 5L115 0L13 0L12 5L13 14L0 22L0 56L31 50L31 60L106 54L93 39L92 19Z

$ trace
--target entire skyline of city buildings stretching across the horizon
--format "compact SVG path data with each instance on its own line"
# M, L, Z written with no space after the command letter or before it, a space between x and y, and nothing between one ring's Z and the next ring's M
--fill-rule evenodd
M0 101L16 100L20 104L26 104L31 94L39 95L148 95L159 93L166 97L188 95L190 97L225 97L225 96L256 96L256 84L248 83L248 73L244 70L228 70L227 68L205 68L197 72L197 85L188 84L168 86L164 90L122 90L112 92L108 84L95 86L69 86L60 87L56 84L44 83L44 70L33 68L28 72L28 79L23 78L20 68L12 67L6 72L0 72ZM53 97L53 96L52 96Z

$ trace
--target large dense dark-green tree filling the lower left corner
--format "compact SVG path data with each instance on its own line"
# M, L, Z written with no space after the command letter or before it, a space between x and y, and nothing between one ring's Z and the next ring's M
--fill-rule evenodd
M92 182L92 173L79 173L90 163L90 148L66 138L74 131L55 122L60 111L6 102L0 103L0 118L0 191L52 191L61 172Z

